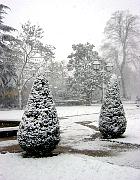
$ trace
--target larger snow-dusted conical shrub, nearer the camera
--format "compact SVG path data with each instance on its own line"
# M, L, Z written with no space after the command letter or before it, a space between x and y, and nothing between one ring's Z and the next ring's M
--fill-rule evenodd
M47 155L60 141L55 104L46 77L38 75L17 133L19 145L33 155Z

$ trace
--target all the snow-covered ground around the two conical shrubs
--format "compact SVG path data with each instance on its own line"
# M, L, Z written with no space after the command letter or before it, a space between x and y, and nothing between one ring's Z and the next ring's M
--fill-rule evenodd
M59 145L78 153L69 151L46 158L0 154L0 180L139 180L140 108L133 104L124 108L128 122L124 138L102 141L97 129L100 105L57 107L58 116L63 117ZM0 119L20 120L22 114L23 111L0 111ZM0 147L16 143L16 140L1 141ZM103 157L97 156L97 152L103 153Z

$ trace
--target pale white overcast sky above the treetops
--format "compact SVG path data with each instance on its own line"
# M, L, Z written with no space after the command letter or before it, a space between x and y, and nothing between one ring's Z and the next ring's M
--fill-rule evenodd
M72 44L90 42L98 49L111 14L129 10L140 15L140 0L0 0L11 11L5 23L19 29L30 20L45 31L46 43L56 47L56 59L65 60Z

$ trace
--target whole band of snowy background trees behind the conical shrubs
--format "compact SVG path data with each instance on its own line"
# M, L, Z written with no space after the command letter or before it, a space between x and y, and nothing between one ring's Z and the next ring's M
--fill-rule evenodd
M100 55L90 43L72 45L65 60L55 59L55 47L44 43L40 26L26 22L20 30L4 24L9 7L0 4L0 106L22 109L38 71L46 74L56 102L91 104L102 100L103 84L116 73L124 99L139 96L140 31L138 16L115 12L105 27ZM16 36L13 35L16 33ZM94 62L100 67L96 69ZM113 70L106 65L112 63ZM104 71L103 71L104 70Z

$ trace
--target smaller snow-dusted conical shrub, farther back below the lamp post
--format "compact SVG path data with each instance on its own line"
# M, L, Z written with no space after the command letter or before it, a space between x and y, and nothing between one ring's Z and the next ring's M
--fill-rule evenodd
M116 76L113 76L101 107L99 130L105 138L117 138L125 132L126 124L118 81Z

